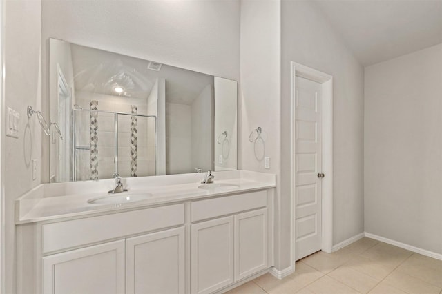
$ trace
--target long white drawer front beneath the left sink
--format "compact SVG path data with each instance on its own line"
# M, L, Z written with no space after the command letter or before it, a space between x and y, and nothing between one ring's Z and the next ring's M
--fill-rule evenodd
M43 252L184 224L184 204L175 204L44 224Z

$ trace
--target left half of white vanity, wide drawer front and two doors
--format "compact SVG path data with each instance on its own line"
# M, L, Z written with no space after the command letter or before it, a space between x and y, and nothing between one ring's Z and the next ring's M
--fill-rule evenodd
M41 230L48 252L44 294L184 294L184 204L43 224ZM121 239L84 246L115 238Z

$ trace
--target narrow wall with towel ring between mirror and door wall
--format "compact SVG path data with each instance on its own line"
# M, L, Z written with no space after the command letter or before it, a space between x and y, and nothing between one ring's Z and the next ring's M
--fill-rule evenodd
M262 140L249 142L262 128ZM241 1L240 168L276 173L280 185L280 1ZM255 149L256 148L256 149ZM258 159L255 155L258 151ZM264 168L264 156L270 169ZM276 268L280 267L280 198L276 199Z

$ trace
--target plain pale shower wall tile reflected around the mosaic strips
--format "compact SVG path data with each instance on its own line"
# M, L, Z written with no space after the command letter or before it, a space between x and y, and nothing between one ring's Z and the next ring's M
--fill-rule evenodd
M131 113L135 99L108 95L77 95L75 103L89 109L91 100L99 100L99 110ZM140 99L137 99L140 100ZM137 101L137 113L147 112L146 102ZM98 114L98 176L99 179L112 177L115 172L115 124L111 113ZM90 146L89 112L77 113L77 146ZM131 176L131 115L118 115L118 173ZM90 150L76 150L77 180L90 179ZM155 175L155 119L137 117L137 176Z

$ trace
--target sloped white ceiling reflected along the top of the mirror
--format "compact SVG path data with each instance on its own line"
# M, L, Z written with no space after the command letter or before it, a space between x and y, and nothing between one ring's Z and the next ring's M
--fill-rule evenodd
M146 100L155 80L166 80L166 102L191 105L213 76L163 64L149 70L148 60L71 44L75 90L117 95L113 87L124 88L120 97Z

